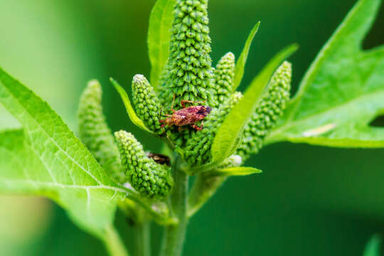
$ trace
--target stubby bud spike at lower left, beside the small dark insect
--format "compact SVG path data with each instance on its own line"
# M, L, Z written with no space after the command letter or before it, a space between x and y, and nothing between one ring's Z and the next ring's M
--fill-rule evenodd
M142 144L131 133L119 131L114 133L114 137L131 186L146 198L161 199L168 196L174 185L171 169L156 164L146 156Z

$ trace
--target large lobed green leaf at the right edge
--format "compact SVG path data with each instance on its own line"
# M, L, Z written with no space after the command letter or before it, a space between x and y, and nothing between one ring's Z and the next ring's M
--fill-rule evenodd
M361 48L379 5L358 1L311 64L267 143L384 146L384 129L369 125L384 111L384 47Z

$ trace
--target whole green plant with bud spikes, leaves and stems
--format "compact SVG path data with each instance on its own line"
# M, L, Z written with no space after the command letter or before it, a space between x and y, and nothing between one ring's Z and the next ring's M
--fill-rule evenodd
M132 122L164 140L171 167L146 156L132 134L112 136L97 81L80 100L80 142L46 102L0 70L0 102L23 125L1 132L0 191L51 198L112 255L127 255L112 225L121 208L137 225L137 255L150 253L150 221L164 225L160 254L181 255L188 219L228 176L260 173L242 164L263 145L384 146L384 130L369 126L384 110L384 48L361 50L379 4L358 1L289 100L292 67L284 60L296 46L272 58L242 95L236 89L260 23L236 63L227 53L213 68L208 0L157 1L148 36L151 83L134 77L131 105L111 81ZM174 97L177 110L181 100L213 108L203 130L160 127ZM191 189L189 176L196 176Z

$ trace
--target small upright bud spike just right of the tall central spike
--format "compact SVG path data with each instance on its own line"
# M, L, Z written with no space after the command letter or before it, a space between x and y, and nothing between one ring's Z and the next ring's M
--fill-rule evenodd
M233 91L234 77L235 55L227 53L219 60L215 69L216 100L219 105L222 105L230 97Z

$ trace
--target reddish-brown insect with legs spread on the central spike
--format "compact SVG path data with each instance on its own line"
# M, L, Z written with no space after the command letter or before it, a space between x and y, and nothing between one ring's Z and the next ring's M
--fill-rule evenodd
M203 119L206 117L212 108L209 106L191 106L186 107L186 103L204 103L204 102L193 102L190 100L181 100L181 106L183 108L181 110L174 110L174 102L175 102L175 95L174 95L174 101L172 102L172 112L173 114L166 114L166 119L159 120L159 122L164 123L161 124L161 128L168 125L171 127L172 125L178 126L178 129L180 129L183 125L191 124L191 127L193 129L196 129L198 131L201 131L203 129ZM201 121L201 126L199 127L197 124L195 124L198 121Z

